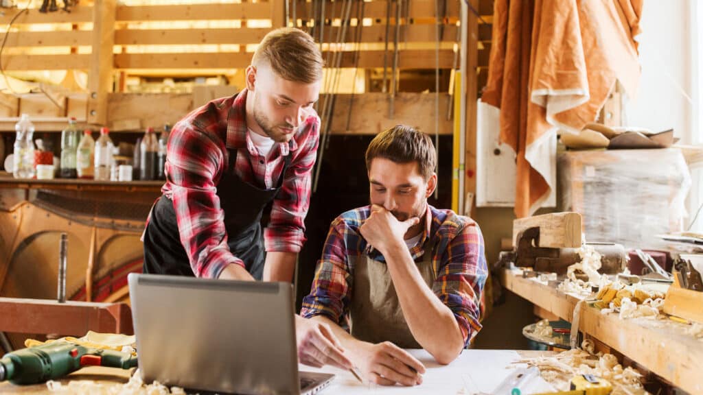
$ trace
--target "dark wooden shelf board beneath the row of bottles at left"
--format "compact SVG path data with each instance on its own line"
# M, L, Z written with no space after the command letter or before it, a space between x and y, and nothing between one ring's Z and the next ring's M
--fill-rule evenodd
M83 179L33 180L14 179L12 174L0 173L0 188L4 189L58 189L108 190L115 192L160 192L165 181L94 181Z

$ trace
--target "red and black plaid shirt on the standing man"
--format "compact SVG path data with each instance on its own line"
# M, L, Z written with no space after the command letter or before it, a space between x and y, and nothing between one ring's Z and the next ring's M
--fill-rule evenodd
M316 160L320 118L315 112L300 125L290 143L276 143L269 157L259 154L247 131L247 90L219 98L176 123L169 137L166 183L162 193L174 202L181 243L198 277L217 278L228 264L244 262L227 245L224 212L217 183L237 150L236 174L259 188L275 188L290 151L290 167L273 200L264 231L266 251L299 252L305 242L304 220L310 204L311 170ZM233 118L227 123L230 108Z

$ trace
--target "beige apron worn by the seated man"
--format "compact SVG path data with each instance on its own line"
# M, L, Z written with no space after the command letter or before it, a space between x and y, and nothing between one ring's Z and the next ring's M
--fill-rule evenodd
M437 240L426 242L423 256L415 261L430 289L437 278L432 264ZM349 306L352 336L373 344L389 341L404 349L421 349L403 316L386 263L375 261L368 254L354 260L354 289Z

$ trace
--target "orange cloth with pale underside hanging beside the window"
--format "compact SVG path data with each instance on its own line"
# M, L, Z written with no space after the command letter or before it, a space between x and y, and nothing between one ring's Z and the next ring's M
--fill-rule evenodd
M501 109L501 141L517 153L515 214L555 188L557 129L593 122L616 80L636 95L643 0L496 0L482 101Z

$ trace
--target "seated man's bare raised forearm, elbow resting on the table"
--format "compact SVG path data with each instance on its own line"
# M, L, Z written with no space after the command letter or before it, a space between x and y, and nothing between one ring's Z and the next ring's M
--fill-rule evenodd
M403 315L415 340L439 363L450 363L464 347L456 318L427 286L405 245L393 247L387 264Z

